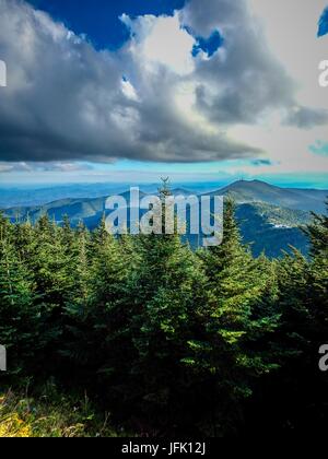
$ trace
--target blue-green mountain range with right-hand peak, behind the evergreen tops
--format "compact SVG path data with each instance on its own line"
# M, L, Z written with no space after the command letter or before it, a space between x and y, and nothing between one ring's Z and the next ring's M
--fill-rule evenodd
M151 188L151 187L150 187ZM152 190L154 190L152 186ZM153 192L153 191L152 191ZM188 189L173 189L173 195L189 196ZM42 205L19 205L4 209L12 221L27 217L35 222L46 212L59 224L63 215L68 215L75 226L80 221L93 229L99 223L108 196L116 191L96 198L66 198ZM120 192L129 202L129 191ZM140 191L140 197L147 192ZM199 196L230 196L236 204L236 216L244 242L250 244L255 256L262 251L269 257L279 257L282 250L290 246L307 254L307 239L302 226L312 220L311 212L325 213L328 190L280 188L259 180L239 180L215 191ZM198 245L198 238L188 236L192 246Z

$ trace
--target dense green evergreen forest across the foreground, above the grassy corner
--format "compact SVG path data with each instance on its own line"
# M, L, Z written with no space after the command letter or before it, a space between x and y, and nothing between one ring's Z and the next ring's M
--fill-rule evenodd
M307 228L311 259L254 258L230 200L224 227L195 251L177 235L115 239L104 220L90 232L1 216L3 390L51 381L143 436L321 429L328 217Z

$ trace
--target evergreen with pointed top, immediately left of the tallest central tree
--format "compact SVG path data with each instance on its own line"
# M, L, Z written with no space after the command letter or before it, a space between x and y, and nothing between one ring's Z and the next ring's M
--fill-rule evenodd
M82 259L85 257L83 244L80 246ZM102 390L104 399L114 407L122 401L125 368L131 361L126 338L130 257L131 254L122 250L120 242L107 231L104 215L92 234L86 255L86 310L78 317L80 340L75 360L84 374L94 375L93 389Z

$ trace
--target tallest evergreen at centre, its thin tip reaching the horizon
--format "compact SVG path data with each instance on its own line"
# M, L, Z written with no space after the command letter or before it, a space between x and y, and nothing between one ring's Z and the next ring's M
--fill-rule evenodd
M162 234L138 238L140 262L130 280L129 333L136 355L129 374L129 405L143 425L184 432L190 424L184 358L203 275L200 261L181 244L176 222L175 233L165 234L166 184L160 196Z

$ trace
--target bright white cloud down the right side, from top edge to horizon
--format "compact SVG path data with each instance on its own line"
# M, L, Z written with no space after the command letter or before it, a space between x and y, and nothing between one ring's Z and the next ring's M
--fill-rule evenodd
M309 151L309 145L328 139L328 91L318 84L318 63L328 57L328 36L317 38L327 0L250 0L249 4L262 23L270 48L294 82L298 105L270 116L266 126L235 126L232 134L263 149L276 163L251 172L328 173L327 157ZM281 126L281 120L288 119L295 126Z

